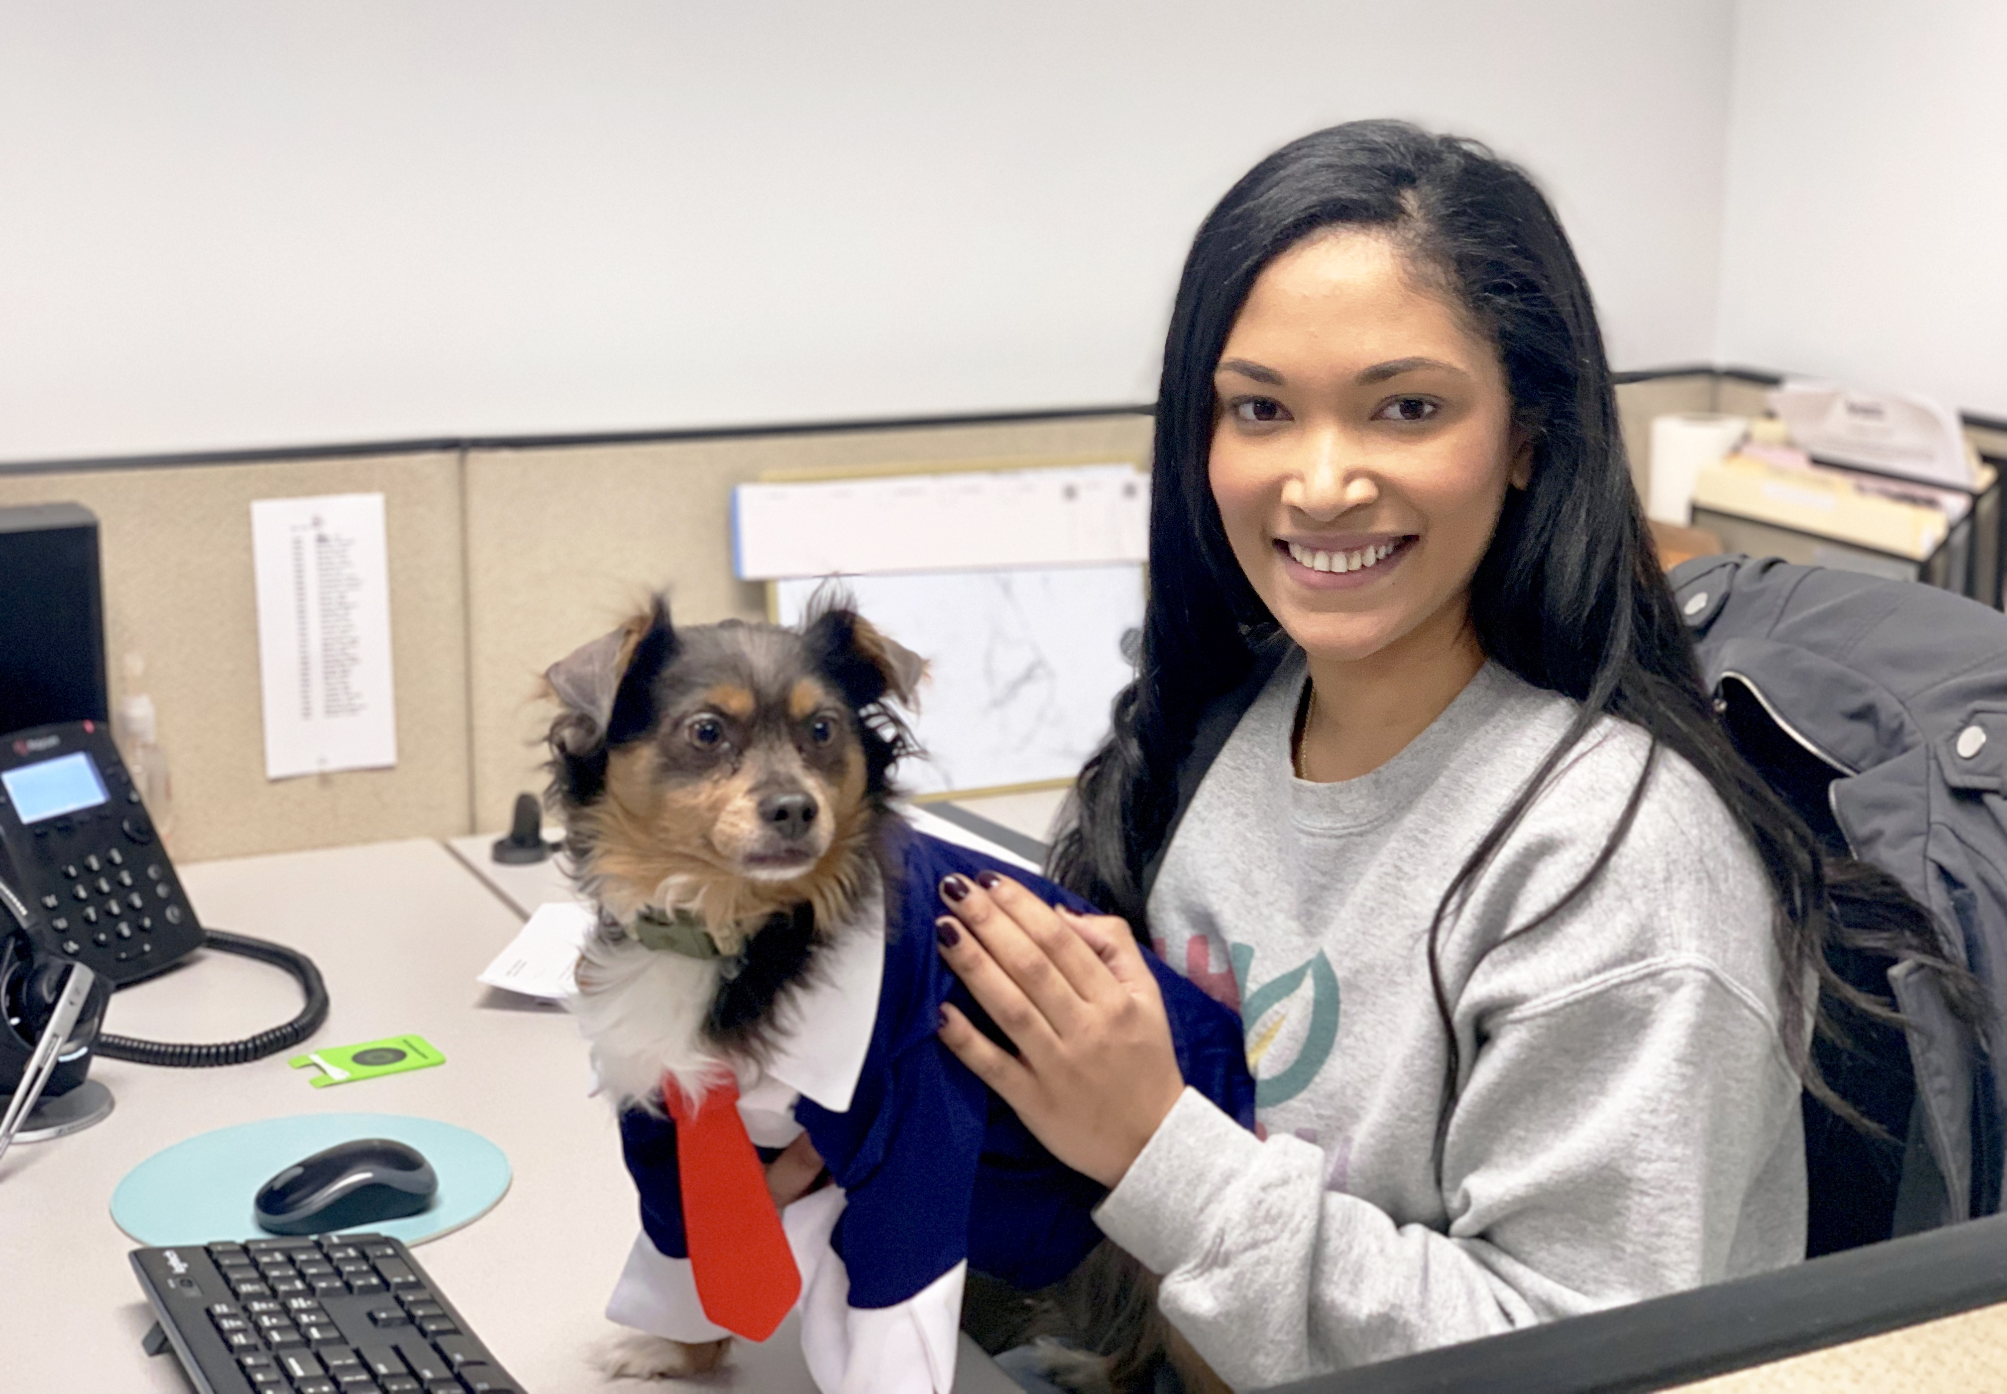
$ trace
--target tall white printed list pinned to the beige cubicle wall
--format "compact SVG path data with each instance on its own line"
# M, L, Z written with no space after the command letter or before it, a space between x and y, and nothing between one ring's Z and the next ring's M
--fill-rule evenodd
M265 777L397 763L383 494L251 504Z

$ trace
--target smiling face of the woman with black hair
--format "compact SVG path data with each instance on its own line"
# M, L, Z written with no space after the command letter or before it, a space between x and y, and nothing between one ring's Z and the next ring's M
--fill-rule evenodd
M1315 665L1465 635L1531 448L1497 350L1387 237L1333 231L1268 263L1212 386L1226 538Z

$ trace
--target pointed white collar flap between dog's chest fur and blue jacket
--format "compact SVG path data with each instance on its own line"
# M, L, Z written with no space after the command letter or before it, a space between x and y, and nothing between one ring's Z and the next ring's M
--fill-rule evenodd
M885 886L871 868L855 918L791 994L765 1073L831 1113L847 1113L871 1049L885 980Z

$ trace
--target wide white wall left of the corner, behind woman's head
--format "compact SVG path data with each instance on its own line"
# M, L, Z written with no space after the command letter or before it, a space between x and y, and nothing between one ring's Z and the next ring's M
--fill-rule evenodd
M1732 0L0 6L0 460L1148 402L1274 145L1553 191L1714 341Z

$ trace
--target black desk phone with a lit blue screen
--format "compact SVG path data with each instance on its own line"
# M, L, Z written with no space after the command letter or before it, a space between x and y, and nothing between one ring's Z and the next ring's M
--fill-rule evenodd
M0 737L0 882L42 954L112 986L205 940L102 721Z

